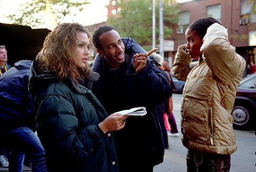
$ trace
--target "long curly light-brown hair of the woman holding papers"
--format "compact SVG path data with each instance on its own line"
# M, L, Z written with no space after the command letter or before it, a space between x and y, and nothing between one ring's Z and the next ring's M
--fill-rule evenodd
M88 39L91 40L89 31L78 23L63 23L55 27L50 32L43 44L43 49L40 53L40 69L48 72L55 72L58 81L64 81L69 74L75 82L79 82L81 77L84 79L90 75L90 66L86 63L85 68L78 68L72 51L77 48L78 41L77 31L85 32ZM92 45L89 45L91 60Z

